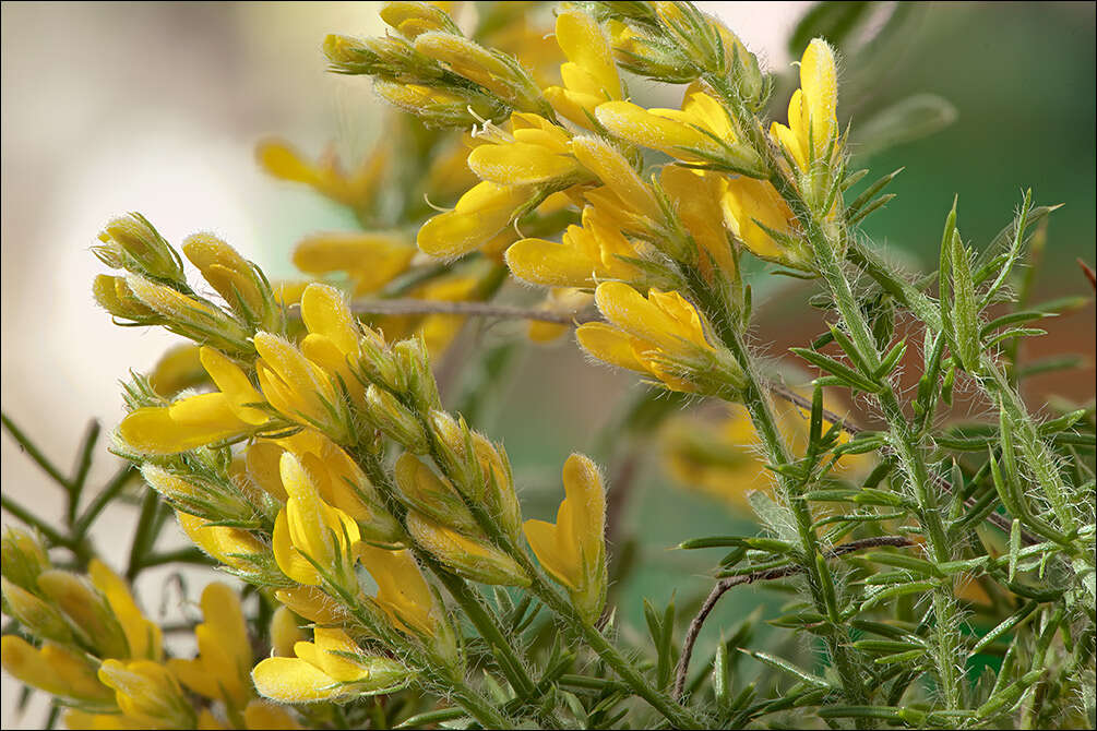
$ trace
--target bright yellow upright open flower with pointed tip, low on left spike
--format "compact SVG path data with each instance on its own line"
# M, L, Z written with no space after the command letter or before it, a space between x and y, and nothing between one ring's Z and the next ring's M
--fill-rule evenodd
M279 568L301 584L317 586L328 580L344 589L357 587L351 547L361 539L358 524L324 502L301 461L289 452L282 455L281 472L289 500L274 523Z

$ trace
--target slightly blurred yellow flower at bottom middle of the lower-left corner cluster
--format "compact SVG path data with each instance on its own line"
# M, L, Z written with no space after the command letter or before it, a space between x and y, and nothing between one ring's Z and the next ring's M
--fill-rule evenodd
M163 665L149 660L106 660L99 666L99 679L114 689L127 720L152 728L194 727L194 709Z

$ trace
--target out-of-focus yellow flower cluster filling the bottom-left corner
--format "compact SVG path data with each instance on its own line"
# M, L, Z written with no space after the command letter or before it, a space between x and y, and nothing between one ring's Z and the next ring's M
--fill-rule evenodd
M25 630L4 635L3 667L63 699L69 728L301 728L253 690L247 623L227 585L202 592L197 656L166 659L160 627L99 560L87 575L56 569L36 536L13 528L2 551L4 612Z

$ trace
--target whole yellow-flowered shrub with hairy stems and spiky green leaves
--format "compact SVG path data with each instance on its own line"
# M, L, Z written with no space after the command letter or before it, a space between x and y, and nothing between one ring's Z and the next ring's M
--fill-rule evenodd
M564 3L554 28L523 4L459 24L389 2L386 36L327 38L331 69L372 77L399 113L353 172L260 146L268 172L362 225L299 244L309 278L271 282L210 233L177 250L138 214L106 226L97 301L191 344L125 385L111 448L133 467L90 503L95 432L66 478L5 420L70 510L57 527L4 502L34 530L3 538L3 666L72 728L1092 726L1094 409L1031 411L1017 367L1016 342L1076 304L1020 306L1013 285L1053 208L1026 194L976 251L953 207L938 273L900 273L858 236L894 173L851 193L867 171L838 117L832 22L848 9L798 30L830 43L800 49L770 121L774 76L689 3ZM879 43L903 27L889 12ZM686 84L680 108L631 101L635 77ZM949 115L917 104L923 127ZM816 288L827 329L792 349L815 376L803 391L748 342L748 258ZM495 301L511 277L544 301ZM475 317L529 319L538 342L574 327L649 386L627 425L669 419L672 473L753 509L754 534L681 537L726 552L695 616L647 605L649 641L618 635L614 486L587 456L562 467L555 521L523 519L505 435L436 379ZM993 420L942 425L961 380ZM675 414L686 398L731 411L701 427ZM855 398L871 427L838 413ZM169 656L87 539L138 472L126 579L176 561L229 574L202 593L194 659ZM172 515L196 549L151 550ZM694 659L746 583L792 590L766 619L800 639L758 644L746 618Z

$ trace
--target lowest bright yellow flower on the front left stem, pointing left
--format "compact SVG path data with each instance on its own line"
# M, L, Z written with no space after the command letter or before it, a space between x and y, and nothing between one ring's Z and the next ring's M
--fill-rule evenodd
M317 627L314 639L297 642L295 658L268 658L256 665L256 689L273 700L303 704L391 693L408 681L404 665L364 654L341 629Z

